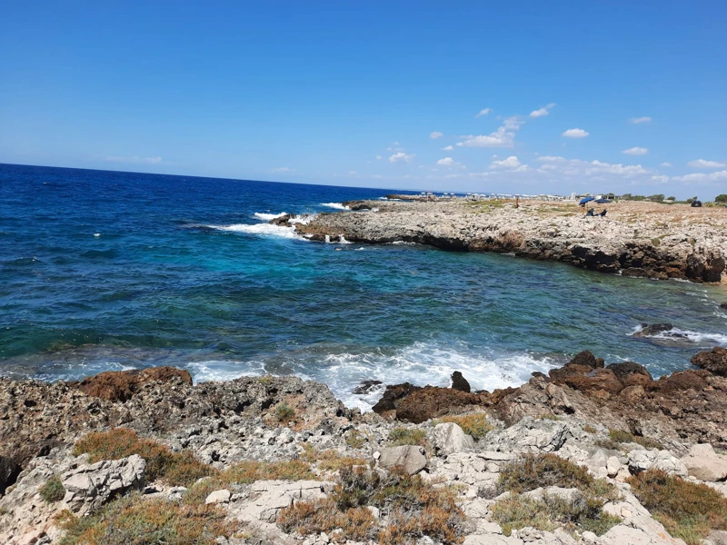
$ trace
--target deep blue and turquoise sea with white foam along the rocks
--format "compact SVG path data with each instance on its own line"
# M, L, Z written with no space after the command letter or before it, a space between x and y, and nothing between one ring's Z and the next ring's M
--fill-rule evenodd
M0 374L175 365L294 373L349 406L366 379L526 381L584 349L655 375L727 345L727 291L423 246L313 243L266 223L386 190L0 164ZM336 251L338 249L342 251ZM688 339L631 336L672 322Z

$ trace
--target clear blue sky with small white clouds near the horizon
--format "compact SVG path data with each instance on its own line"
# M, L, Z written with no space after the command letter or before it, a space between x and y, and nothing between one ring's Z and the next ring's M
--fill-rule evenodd
M727 193L727 3L18 2L0 163Z

